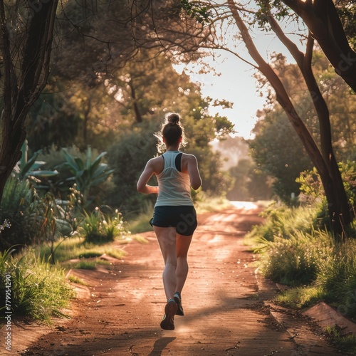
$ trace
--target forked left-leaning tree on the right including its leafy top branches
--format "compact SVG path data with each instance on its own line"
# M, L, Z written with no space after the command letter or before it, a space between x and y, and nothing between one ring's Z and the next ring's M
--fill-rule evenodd
M310 3L311 1L306 2ZM320 1L315 2L320 4ZM353 213L347 201L345 187L333 152L328 107L325 105L325 100L323 100L313 76L311 66L314 44L313 37L310 35L305 37L305 53L303 53L286 36L286 33L283 32L278 21L273 16L273 12L278 16L288 15L286 6L283 6L280 1L273 3L270 1L258 1L259 7L252 5L249 8L249 3L240 6L234 0L229 0L227 4L221 5L215 4L212 1L183 1L182 4L187 17L193 17L197 19L198 23L203 23L205 27L210 28L210 30L206 31L206 33L209 33L209 37L206 38L205 47L224 49L241 58L241 55L235 51L234 44L231 45L231 42L233 43L237 38L237 36L231 38L231 33L238 33L253 62L243 58L244 61L250 63L253 68L260 71L266 77L273 90L275 90L276 100L286 112L288 120L303 143L303 147L308 153L310 160L318 169L323 181L325 195L328 199L330 221L333 221L333 229L335 232L342 232L342 225L350 224L353 219ZM276 8L273 8L272 4L276 5ZM201 13L206 14L206 17L202 21ZM283 78L278 77L271 65L258 52L258 48L256 48L248 29L248 26L256 28L257 25L264 26L263 30L272 29L295 59L308 87L310 98L313 100L314 110L318 115L320 145L318 145L318 142L315 142L308 127L300 117L300 113L295 109L291 100L293 93L288 93L288 90L283 85ZM340 30L340 28L337 27L337 30ZM342 41L341 37L340 41Z

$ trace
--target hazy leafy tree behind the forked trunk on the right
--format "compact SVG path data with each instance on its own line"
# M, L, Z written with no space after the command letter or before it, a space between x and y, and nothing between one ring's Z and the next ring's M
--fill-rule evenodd
M298 68L288 63L283 56L276 55L273 56L273 69L283 78L286 89L293 93L295 110L303 117L315 142L320 142L313 101L310 100L310 93ZM346 162L347 159L352 161L356 143L356 121L352 115L352 112L355 112L355 95L350 93L350 88L335 73L320 51L313 53L313 72L330 112L335 156L340 162ZM263 78L258 80L261 86L265 83ZM251 156L259 169L275 178L273 188L276 194L289 204L290 193L297 195L299 192L299 182L295 182L295 179L299 177L300 172L313 169L312 164L273 90L268 90L268 104L258 112L258 116L260 120L254 128L256 138L250 142Z

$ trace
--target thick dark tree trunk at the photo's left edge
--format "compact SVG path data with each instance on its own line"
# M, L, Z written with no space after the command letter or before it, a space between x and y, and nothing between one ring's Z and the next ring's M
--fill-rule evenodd
M25 37L17 38L19 42L16 42L10 41L9 36L11 26L18 30L16 20L8 23L4 1L0 1L0 42L1 55L4 58L0 199L12 169L21 158L21 146L26 139L24 123L28 110L46 87L57 5L58 0L27 1L26 9L31 12L31 20L23 33L16 35ZM23 43L23 46L20 44L18 48L14 48L14 43ZM22 54L20 59L19 53Z

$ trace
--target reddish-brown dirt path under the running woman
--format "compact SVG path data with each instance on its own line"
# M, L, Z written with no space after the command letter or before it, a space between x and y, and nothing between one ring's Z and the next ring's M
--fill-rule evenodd
M13 352L21 355L340 355L318 328L268 300L274 286L256 277L242 237L258 209L227 209L199 217L176 330L159 328L164 310L162 256L155 236L124 247L110 271L75 271L90 293L75 300L70 320L51 328L21 325ZM43 333L43 335L41 335ZM27 345L26 345L27 343ZM26 350L25 350L26 349Z

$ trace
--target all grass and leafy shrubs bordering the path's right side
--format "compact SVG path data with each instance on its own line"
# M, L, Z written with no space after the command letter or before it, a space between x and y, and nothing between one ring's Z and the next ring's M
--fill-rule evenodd
M345 182L353 182L350 162L347 167L341 167L343 174L349 174ZM289 206L268 206L262 213L263 224L254 226L245 242L259 253L263 276L285 286L276 302L303 310L323 301L355 321L356 226L351 224L342 234L333 233L318 179L315 170L303 172L298 179L302 191L299 199ZM355 209L352 184L345 187ZM333 328L326 332L339 350L356 351L355 336Z

